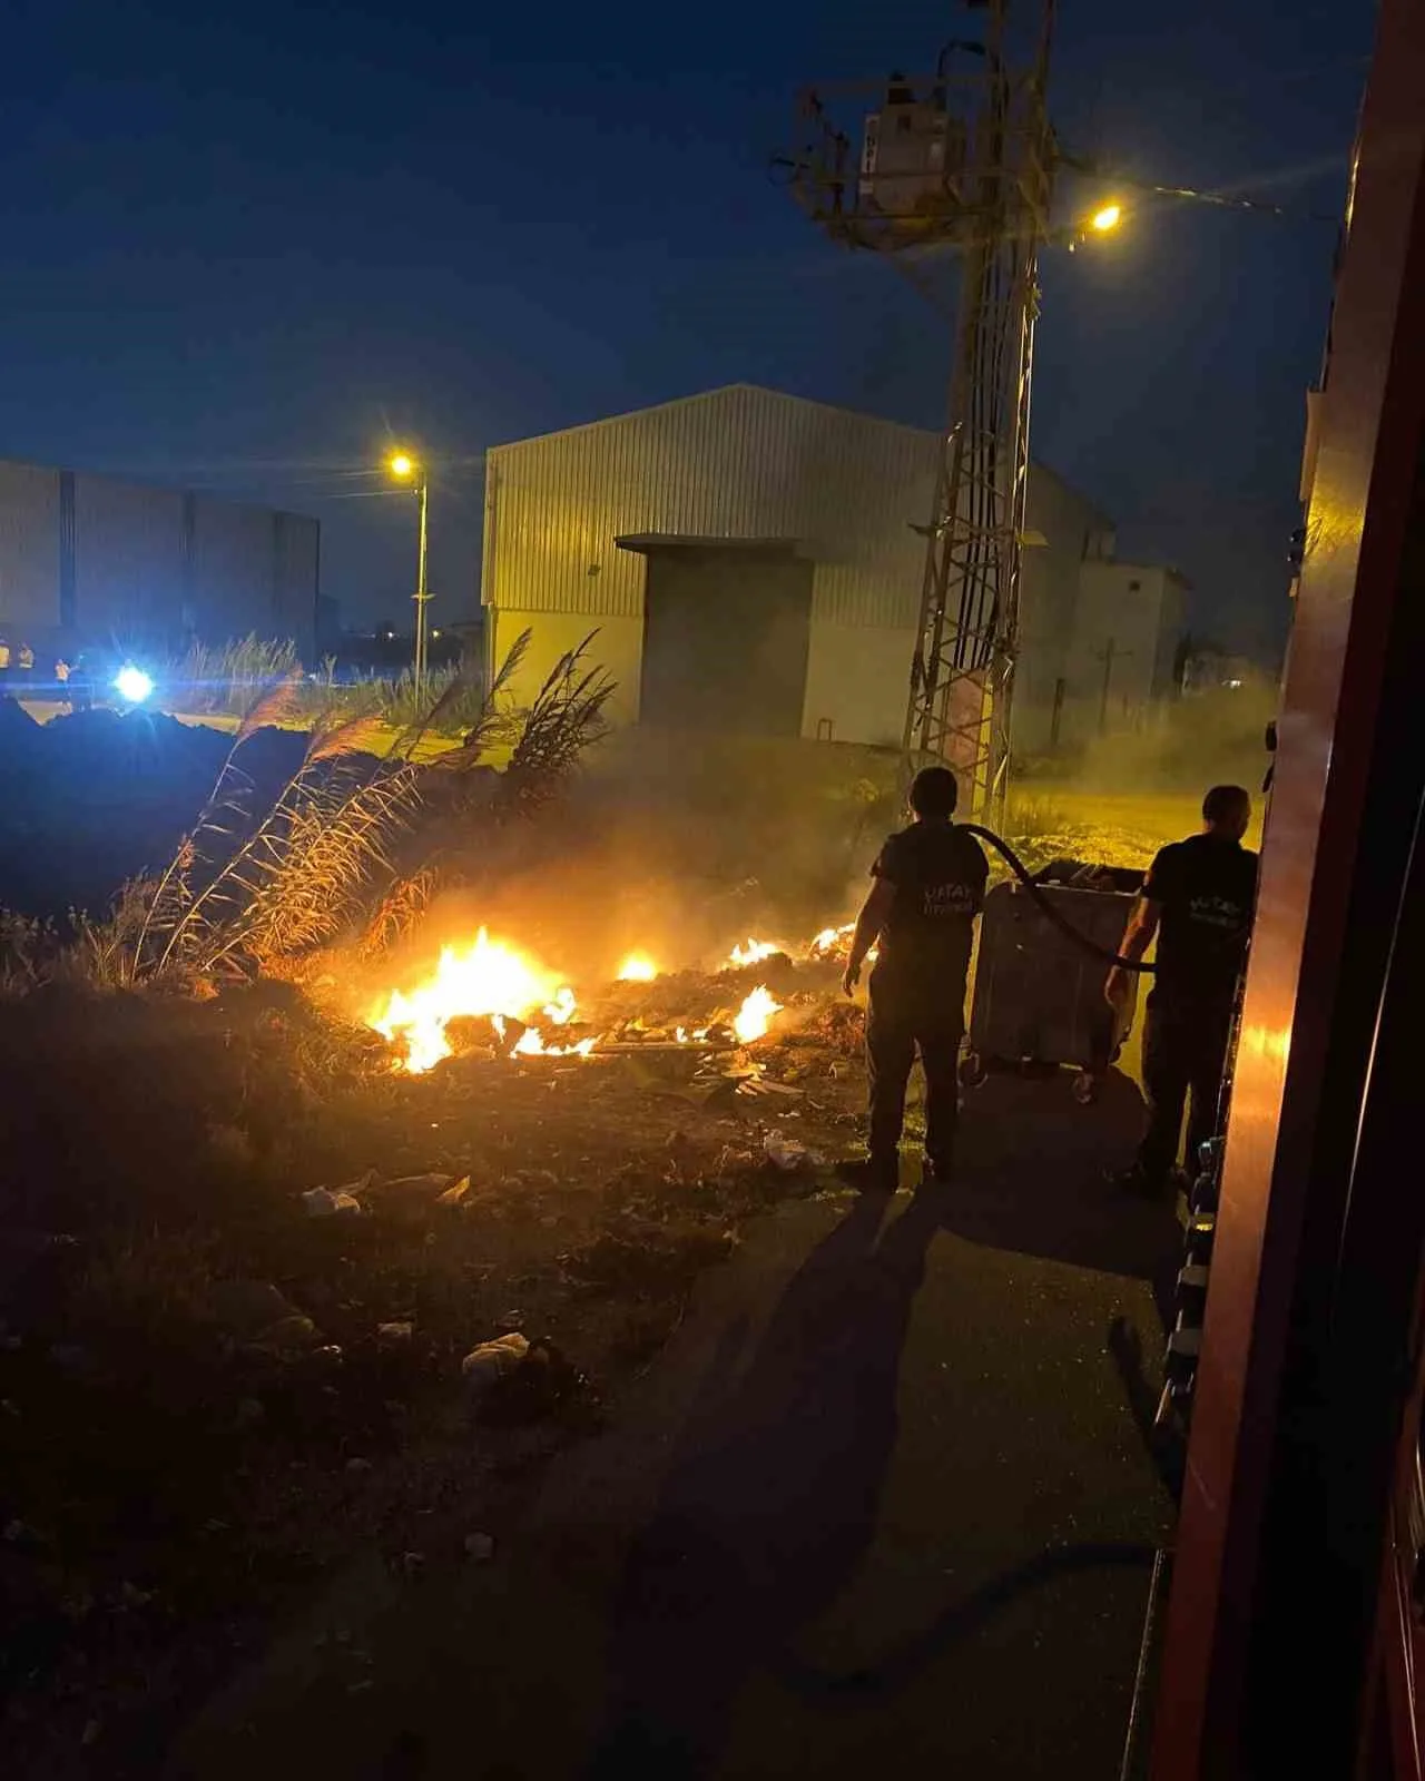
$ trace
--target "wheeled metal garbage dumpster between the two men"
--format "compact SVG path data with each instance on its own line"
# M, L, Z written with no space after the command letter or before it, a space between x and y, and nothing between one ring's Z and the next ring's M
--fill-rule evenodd
M1117 953L1142 873L1054 860L1035 876L1038 894L1097 947ZM969 1053L960 1079L974 1086L1006 1065L1072 1065L1074 1092L1094 1097L1133 1028L1138 978L1115 1019L1104 1001L1106 960L1078 946L1017 880L994 885L980 923Z

